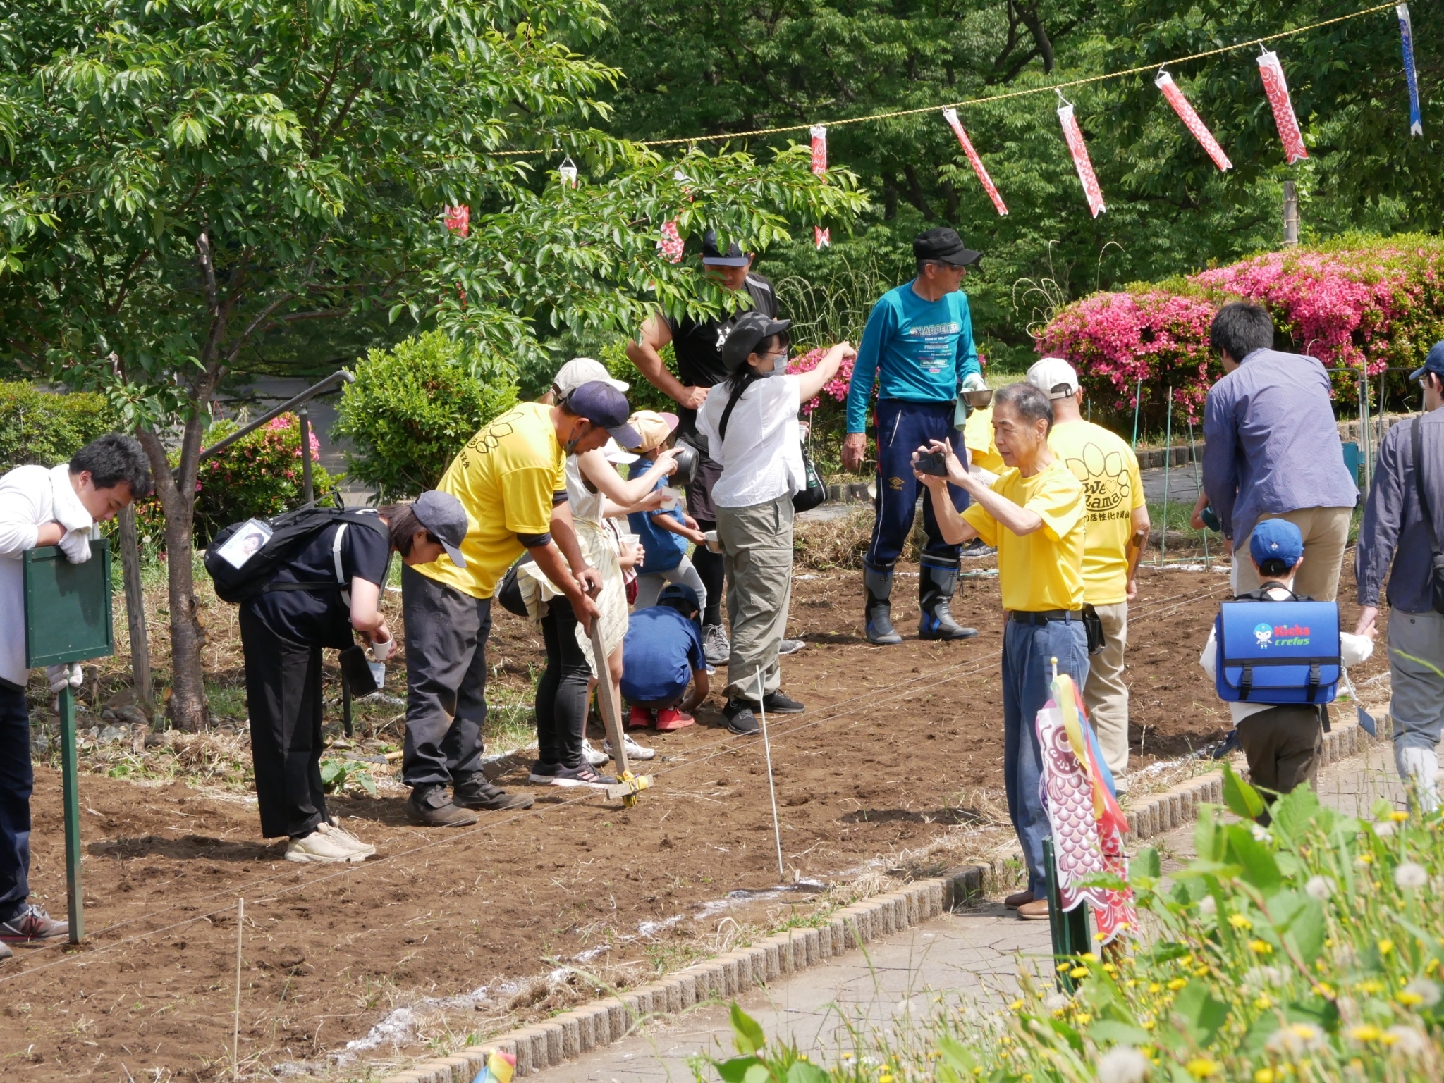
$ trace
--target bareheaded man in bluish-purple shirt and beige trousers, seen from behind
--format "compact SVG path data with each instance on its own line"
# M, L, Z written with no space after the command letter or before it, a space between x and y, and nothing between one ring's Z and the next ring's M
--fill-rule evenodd
M1219 309L1209 345L1225 377L1203 414L1203 488L1232 544L1233 592L1259 588L1248 557L1253 526L1287 518L1304 536L1294 589L1331 602L1359 487L1344 466L1328 373L1317 358L1274 349L1274 319L1242 300Z

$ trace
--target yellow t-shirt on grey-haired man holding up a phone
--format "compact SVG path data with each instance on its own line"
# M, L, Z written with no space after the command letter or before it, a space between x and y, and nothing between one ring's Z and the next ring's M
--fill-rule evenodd
M1004 471L992 491L1043 517L1043 527L1019 537L982 504L963 511L978 536L998 547L1002 608L1040 612L1083 608L1083 485L1054 459L1031 478Z

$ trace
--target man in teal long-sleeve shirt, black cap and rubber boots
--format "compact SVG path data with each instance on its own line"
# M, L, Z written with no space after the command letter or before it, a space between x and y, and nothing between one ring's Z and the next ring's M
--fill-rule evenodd
M959 388L983 390L973 322L967 296L959 289L967 267L982 258L963 247L946 227L928 230L913 241L917 277L888 290L872 308L848 387L848 436L842 465L858 469L866 451L866 414L872 387L878 387L875 429L878 479L872 542L862 563L866 586L866 630L869 643L902 643L892 628L892 566L897 563L921 492L913 472L913 452L931 440L947 440L966 461L963 433L954 427ZM967 494L949 487L962 511ZM921 575L917 634L924 640L966 640L978 634L959 627L949 611L957 589L957 559L962 546L943 540L933 505L923 503Z

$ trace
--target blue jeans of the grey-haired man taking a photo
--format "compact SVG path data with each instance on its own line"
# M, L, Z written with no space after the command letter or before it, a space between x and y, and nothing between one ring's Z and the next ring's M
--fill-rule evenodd
M1028 862L1028 890L1034 898L1047 897L1043 840L1053 832L1038 793L1043 751L1034 719L1048 702L1054 657L1058 673L1067 673L1083 687L1087 680L1087 632L1082 617L1041 625L1008 621L1004 627L1002 774L1008 787L1008 817Z

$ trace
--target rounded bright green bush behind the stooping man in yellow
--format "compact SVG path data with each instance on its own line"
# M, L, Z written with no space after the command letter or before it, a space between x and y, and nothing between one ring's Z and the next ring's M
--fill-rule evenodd
M354 448L347 475L383 503L436 488L461 446L517 401L514 373L440 331L370 351L355 375L332 433Z

